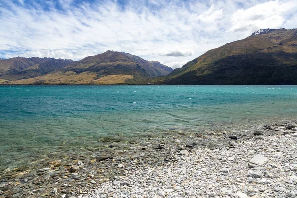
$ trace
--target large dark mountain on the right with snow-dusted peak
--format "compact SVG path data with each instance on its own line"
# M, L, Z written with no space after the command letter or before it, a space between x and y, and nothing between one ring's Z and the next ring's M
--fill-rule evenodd
M297 29L260 29L207 51L156 84L297 84Z

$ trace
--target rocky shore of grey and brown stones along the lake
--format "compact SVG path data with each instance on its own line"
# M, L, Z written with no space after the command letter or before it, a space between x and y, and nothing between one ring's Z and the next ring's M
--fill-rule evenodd
M295 198L297 122L108 142L0 172L0 198Z

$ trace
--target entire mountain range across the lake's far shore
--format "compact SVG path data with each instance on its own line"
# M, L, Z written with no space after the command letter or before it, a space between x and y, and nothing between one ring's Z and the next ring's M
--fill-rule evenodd
M260 29L173 70L124 52L0 59L0 84L297 84L297 29Z

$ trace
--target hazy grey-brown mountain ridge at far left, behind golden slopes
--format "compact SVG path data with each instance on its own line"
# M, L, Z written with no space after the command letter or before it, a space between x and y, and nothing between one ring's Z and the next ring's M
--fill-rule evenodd
M0 79L20 80L47 74L62 69L73 60L54 58L10 58L0 59Z

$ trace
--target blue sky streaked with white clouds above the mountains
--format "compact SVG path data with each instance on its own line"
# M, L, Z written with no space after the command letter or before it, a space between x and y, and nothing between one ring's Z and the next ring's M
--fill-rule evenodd
M0 0L0 58L123 51L170 67L260 28L297 28L297 0Z

